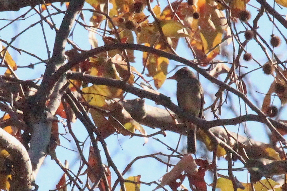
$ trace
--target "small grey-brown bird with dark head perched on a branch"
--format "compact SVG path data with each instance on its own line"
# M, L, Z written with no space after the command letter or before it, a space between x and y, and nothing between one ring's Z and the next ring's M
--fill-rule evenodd
M178 70L173 76L167 79L175 79L177 81L177 102L183 111L197 116L203 117L204 95L200 81L195 74L187 67ZM186 121L187 128L187 153L196 153L196 125Z

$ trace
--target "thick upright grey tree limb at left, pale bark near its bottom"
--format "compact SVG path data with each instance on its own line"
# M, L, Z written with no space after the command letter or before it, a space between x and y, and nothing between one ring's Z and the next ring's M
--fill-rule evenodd
M46 2L48 3L48 2ZM57 70L57 67L64 64L64 49L69 32L75 20L75 16L82 9L84 0L71 1L65 13L61 27L56 33L54 52L46 67L43 81L34 96L28 98L24 110L24 121L32 129L29 156L33 164L34 175L36 176L44 158L47 155L47 148L50 143L53 115L61 103L60 89L65 85L65 78L60 76L54 82L49 77ZM59 80L61 79L61 80ZM54 87L55 86L55 87ZM52 96L48 108L46 100Z

